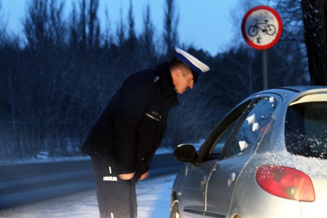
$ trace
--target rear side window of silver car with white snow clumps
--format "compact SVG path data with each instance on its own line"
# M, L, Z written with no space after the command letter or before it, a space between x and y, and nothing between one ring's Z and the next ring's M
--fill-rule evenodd
M272 97L261 99L253 105L233 137L226 157L243 153L258 141L271 121L275 106L276 103Z

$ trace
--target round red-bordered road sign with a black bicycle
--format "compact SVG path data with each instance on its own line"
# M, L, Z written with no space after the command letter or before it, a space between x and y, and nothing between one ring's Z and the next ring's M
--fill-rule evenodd
M279 14L268 6L251 8L242 20L242 35L254 49L269 49L281 38L283 25Z

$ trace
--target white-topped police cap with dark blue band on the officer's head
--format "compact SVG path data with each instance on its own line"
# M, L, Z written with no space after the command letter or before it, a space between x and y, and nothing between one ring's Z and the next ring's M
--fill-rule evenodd
M199 76L201 73L210 70L210 68L205 63L201 62L193 55L178 48L175 48L175 50L176 50L176 55L175 55L176 58L178 58L184 64L189 66L196 73L196 76Z

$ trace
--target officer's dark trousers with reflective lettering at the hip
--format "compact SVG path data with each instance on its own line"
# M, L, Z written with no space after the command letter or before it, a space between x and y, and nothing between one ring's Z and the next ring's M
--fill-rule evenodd
M91 158L101 218L136 218L135 180L121 180L114 166Z

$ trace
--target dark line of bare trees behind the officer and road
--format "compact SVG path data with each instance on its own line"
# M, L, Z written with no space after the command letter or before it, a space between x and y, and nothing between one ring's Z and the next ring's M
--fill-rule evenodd
M262 89L261 51L235 44L212 56L181 45L177 7L173 0L165 3L162 38L155 38L149 7L143 30L136 33L131 1L128 17L114 31L109 19L105 30L100 28L99 0L76 1L69 16L61 1L31 0L22 20L24 37L7 33L0 21L0 158L31 158L42 151L52 157L81 155L81 143L122 82L166 61L175 46L211 71L179 96L161 146L204 139L229 109ZM268 51L270 88L310 84L303 37L296 34L285 30Z

